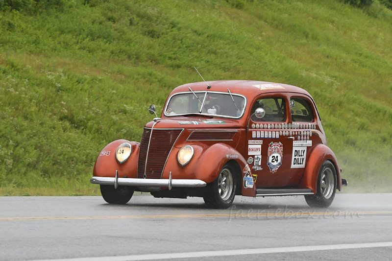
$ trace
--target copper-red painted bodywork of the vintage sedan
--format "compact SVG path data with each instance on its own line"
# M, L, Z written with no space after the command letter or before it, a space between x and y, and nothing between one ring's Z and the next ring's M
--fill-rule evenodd
M257 180L253 188L245 188L242 186L242 195L255 196L256 187L312 189L312 191L316 193L319 168L324 161L329 160L336 167L338 189L341 190L341 171L338 161L332 150L326 146L326 137L321 125L319 112L313 98L308 92L291 85L261 81L212 81L208 82L208 84L212 86L208 91L227 94L227 89L229 88L232 94L244 95L246 97L245 113L240 119L195 114L189 116L166 116L164 112L168 109L167 104L172 95L180 92L189 92L189 88L194 92L207 90L207 86L204 82L184 84L175 88L168 96L165 103L164 110L161 114L162 119L158 119L154 126L153 121L150 121L145 125L145 128L151 129L153 127L152 132L158 129L183 129L178 137L174 137L176 138L176 141L173 143L170 153L169 151L167 152L169 154L161 174L162 179L169 179L170 172L172 172L172 179L199 179L206 183L211 183L218 177L222 167L227 162L231 161L241 170L240 173L236 174L238 175L238 178L243 180L245 175L243 170L248 164L248 158L252 157L253 162L248 164L250 167L249 172L250 174L257 175ZM255 85L259 86L262 84L271 84L272 88L260 89L255 87ZM279 87L273 88L274 86ZM305 124L302 128L294 130L282 128L265 129L264 126L263 129L251 128L252 123L260 123L259 121L250 119L253 104L258 99L267 97L279 97L284 100L286 119L283 122L263 121L263 125L292 124L293 120L290 107L291 97L302 98L310 104L314 121L294 122ZM207 124L205 122L206 120L211 119L221 120L222 122L220 124ZM184 124L184 122L186 122L186 124ZM247 129L248 122L249 129ZM311 124L312 126L315 126L315 128L306 128L307 124ZM264 134L266 132L275 132L275 138L254 138L252 136L254 132L257 133L261 131L263 131ZM280 135L280 132L283 131L292 131L294 134ZM279 133L279 138L276 138L276 132ZM295 132L297 133L296 135ZM306 146L304 166L292 168L293 144L294 141L298 141L298 137L303 137L300 134L301 132L312 132L312 136L309 137L309 140L312 141L312 145ZM308 136L306 135L305 137ZM260 144L261 164L258 166L261 167L262 170L252 168L255 166L255 155L248 155L249 143L254 141L262 141L262 144ZM110 155L98 156L94 166L94 176L114 177L116 170L118 170L119 177L127 176L128 178L137 178L139 148L141 144L139 142L128 142L132 145L132 154L125 163L120 164L116 160L115 153L117 147L123 142L128 141L118 140L111 142L102 150L110 151ZM269 147L271 143L279 144L279 142L283 147L281 165L276 171L271 171L268 166ZM194 148L194 156L186 166L181 166L178 163L177 154L179 149L185 145L191 145ZM159 142L154 146L159 146ZM158 149L154 146L150 146L149 150ZM241 184L243 183L241 182Z

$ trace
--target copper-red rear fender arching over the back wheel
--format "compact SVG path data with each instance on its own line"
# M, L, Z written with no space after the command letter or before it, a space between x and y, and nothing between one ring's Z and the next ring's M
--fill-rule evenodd
M306 163L304 175L302 177L300 187L312 189L313 193L317 193L317 179L319 177L319 170L324 161L331 161L335 166L337 175L338 190L342 190L341 171L338 165L338 160L332 150L324 144L317 144L312 150L309 160Z

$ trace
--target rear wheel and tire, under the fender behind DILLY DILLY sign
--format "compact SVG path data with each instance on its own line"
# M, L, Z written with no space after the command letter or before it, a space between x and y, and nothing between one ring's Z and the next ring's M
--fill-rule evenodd
M313 208L327 208L332 204L336 193L336 169L330 161L325 161L319 170L317 193L305 195L306 203Z

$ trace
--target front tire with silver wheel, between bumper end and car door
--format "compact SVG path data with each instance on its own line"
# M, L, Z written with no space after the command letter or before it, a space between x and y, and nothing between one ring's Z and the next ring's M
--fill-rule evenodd
M236 195L236 175L234 167L226 163L219 173L217 179L206 187L203 196L204 202L216 209L227 209L231 206Z

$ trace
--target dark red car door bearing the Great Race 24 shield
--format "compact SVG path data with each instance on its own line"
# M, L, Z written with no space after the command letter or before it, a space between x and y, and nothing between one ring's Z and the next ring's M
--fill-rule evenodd
M251 115L257 108L265 111L261 119L250 117L246 139L247 163L256 187L283 188L300 183L303 168L291 168L294 134L298 130L293 133L289 129L289 97L285 93L260 95L252 104Z

